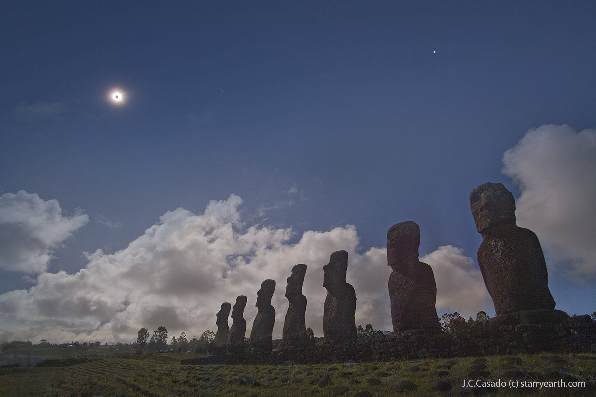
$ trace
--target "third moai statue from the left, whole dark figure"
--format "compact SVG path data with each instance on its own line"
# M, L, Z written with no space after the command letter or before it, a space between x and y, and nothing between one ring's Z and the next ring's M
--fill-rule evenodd
M271 305L271 298L275 292L275 281L265 280L257 292L259 308L254 317L253 329L250 331L250 340L254 352L270 352L273 349L273 326L275 324L275 308Z

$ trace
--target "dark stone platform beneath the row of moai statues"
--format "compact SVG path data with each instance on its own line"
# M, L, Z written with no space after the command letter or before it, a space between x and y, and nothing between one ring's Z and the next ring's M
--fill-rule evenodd
M539 352L596 353L596 323L588 315L569 317L560 310L527 310L475 321L469 332L458 336L436 329L405 330L357 342L212 356L184 360L183 364L316 364Z

